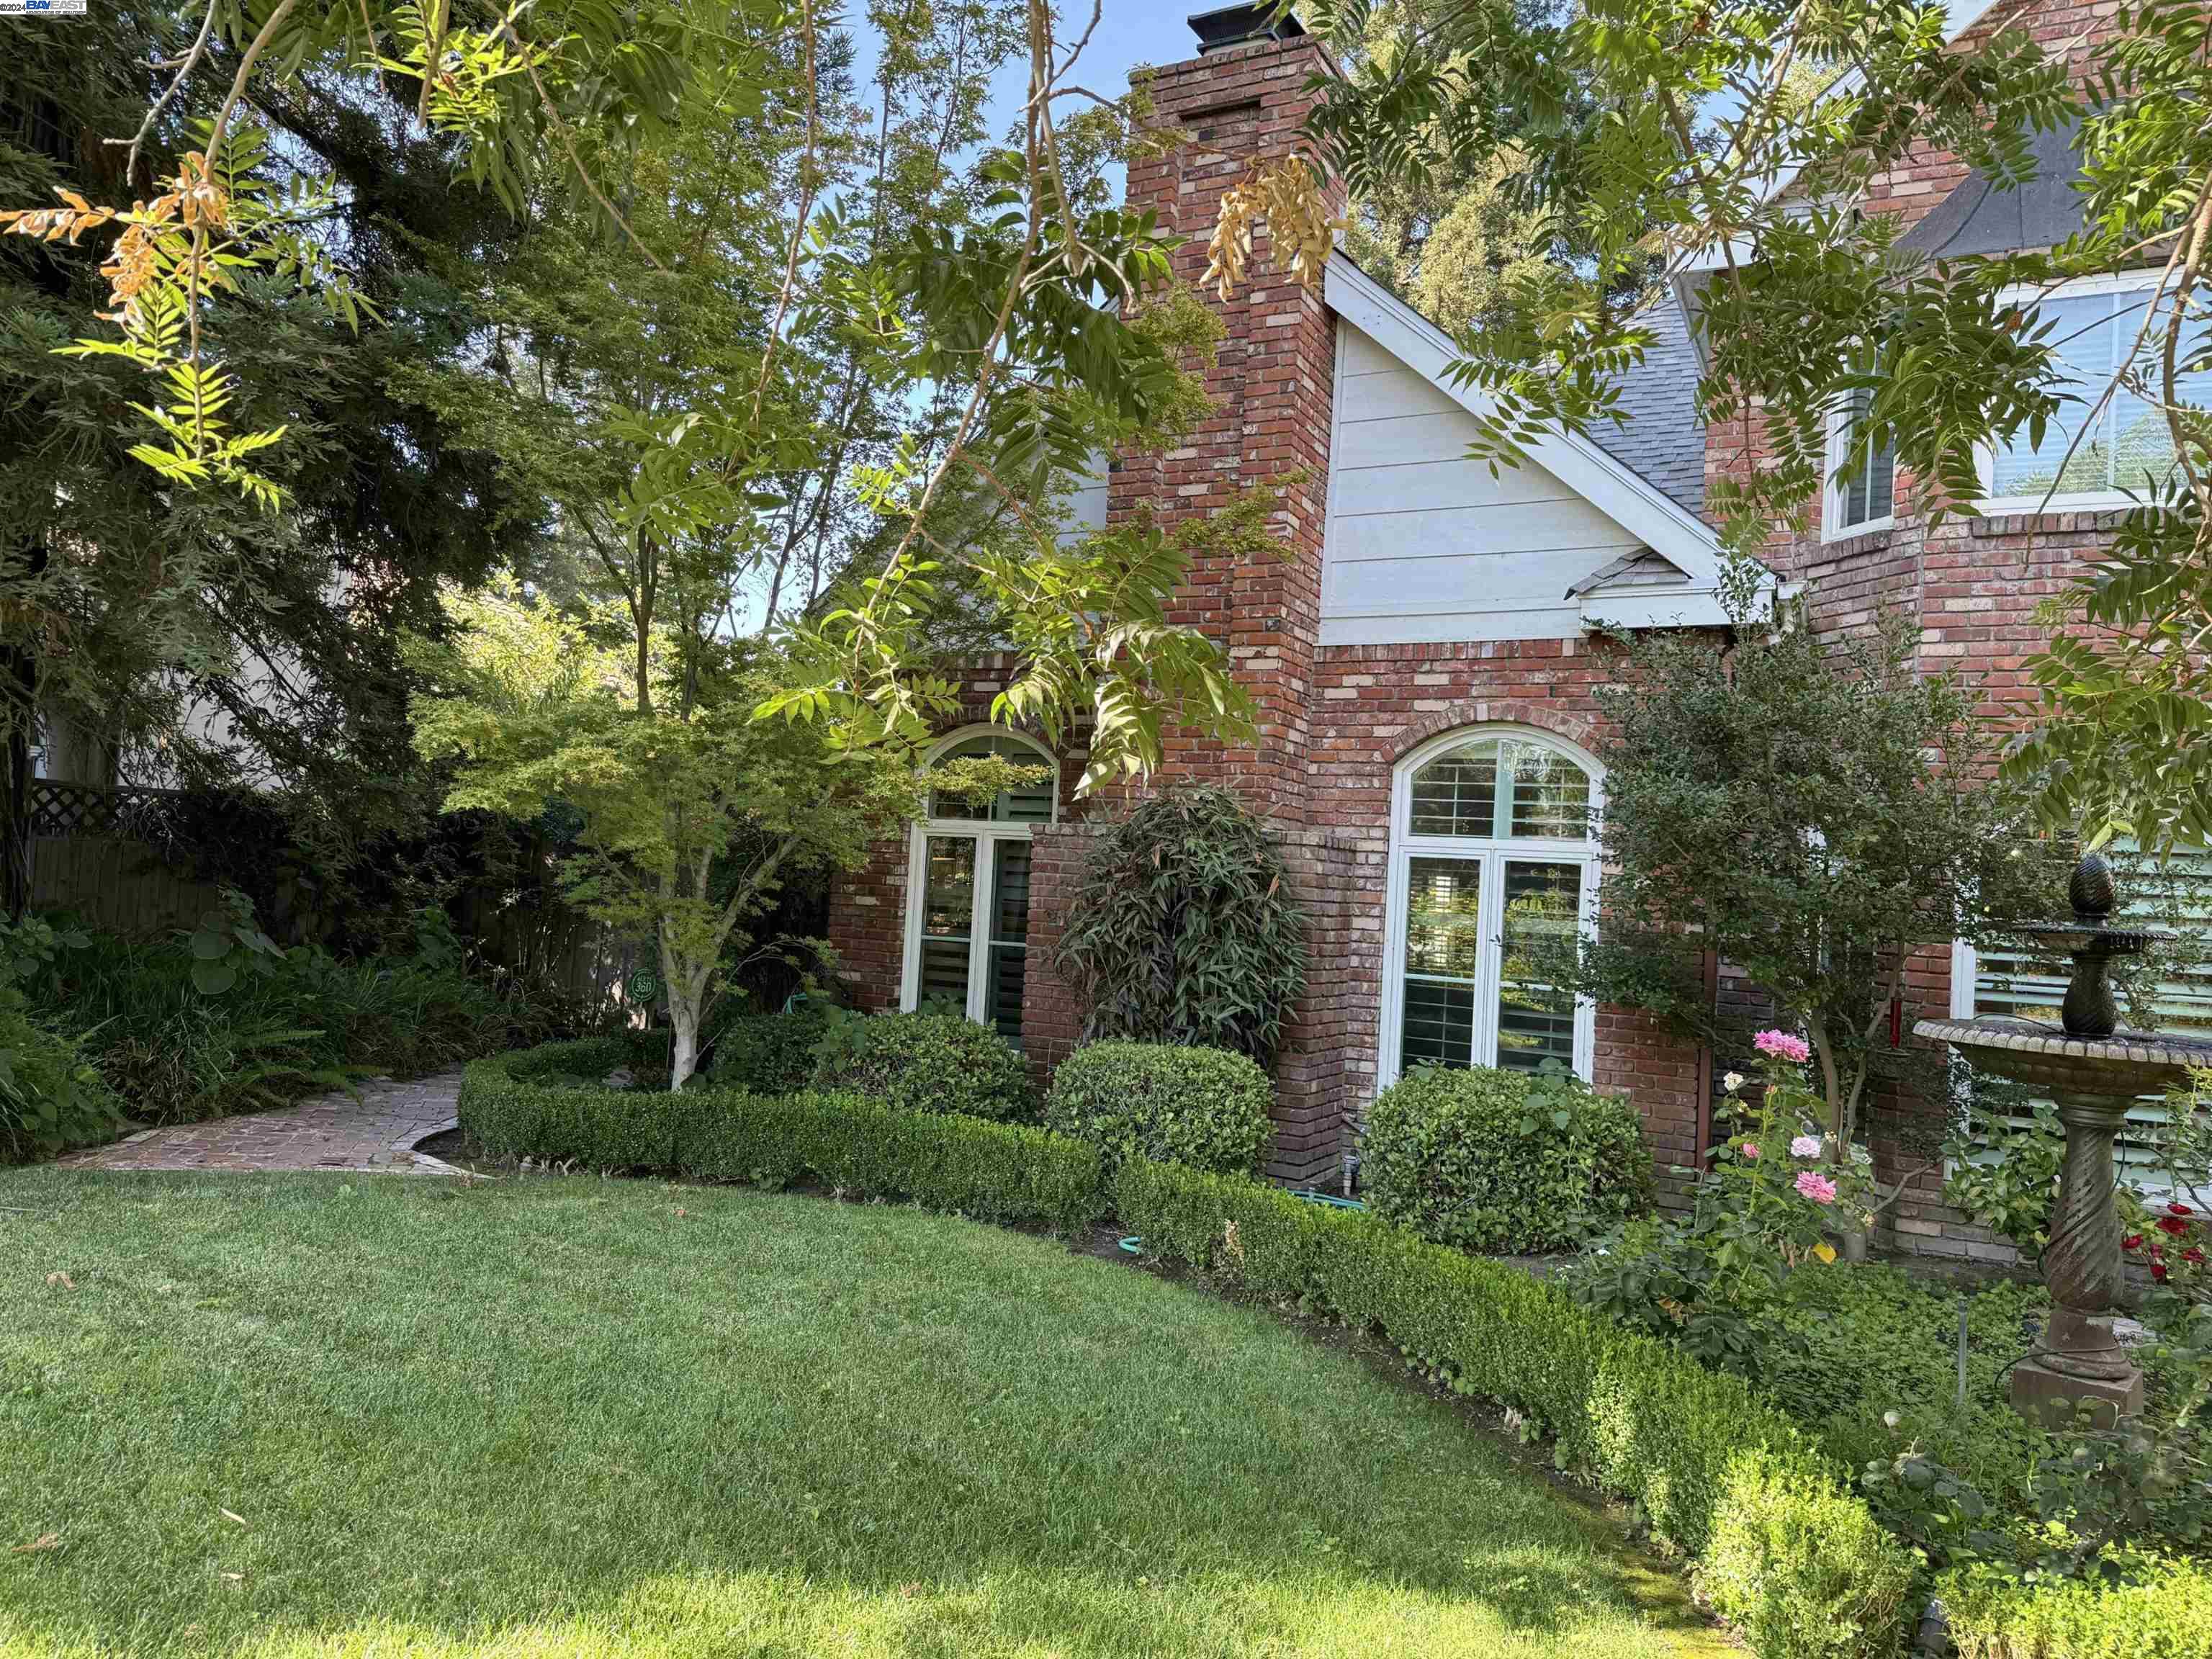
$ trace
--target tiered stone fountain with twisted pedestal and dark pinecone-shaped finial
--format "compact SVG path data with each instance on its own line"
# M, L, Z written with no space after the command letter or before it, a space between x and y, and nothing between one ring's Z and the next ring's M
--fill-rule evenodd
M2112 1305L2121 1292L2112 1137L2139 1095L2188 1082L2192 1066L2212 1066L2212 1042L2119 1026L2119 1002L2106 978L2110 962L2139 953L2150 936L2106 925L2119 894L2101 854L2075 865L2066 896L2073 922L2015 929L2073 956L2059 1024L1982 1015L1920 1020L1913 1033L1947 1042L1971 1066L2057 1104L2066 1159L2044 1250L2051 1321L2035 1352L2013 1367L2013 1405L2033 1418L2055 1418L2062 1413L2057 1402L2066 1400L2110 1420L2143 1409L2143 1374L2112 1336Z

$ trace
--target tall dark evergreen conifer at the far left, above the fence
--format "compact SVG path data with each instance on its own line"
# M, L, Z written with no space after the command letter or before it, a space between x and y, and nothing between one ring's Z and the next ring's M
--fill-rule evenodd
M124 190L126 146L106 139L142 124L142 64L181 49L173 29L170 9L137 0L20 31L0 62L0 201ZM221 53L210 44L210 62ZM219 95L201 77L168 100L142 179L166 168ZM332 887L392 836L427 830L434 790L405 723L398 633L438 624L442 580L524 562L540 526L489 456L453 445L385 385L394 365L467 343L431 254L467 265L518 228L495 197L451 188L458 142L416 128L414 108L414 86L403 97L389 77L307 62L292 77L254 77L234 115L272 135L257 166L270 190L334 181L321 237L378 319L349 327L294 283L254 272L204 314L210 349L237 372L232 409L250 427L285 427L263 460L290 502L281 515L170 487L131 456L144 372L49 349L102 332L113 232L0 239L11 907L29 900L24 807L40 734L49 763L82 765L62 776L274 794Z

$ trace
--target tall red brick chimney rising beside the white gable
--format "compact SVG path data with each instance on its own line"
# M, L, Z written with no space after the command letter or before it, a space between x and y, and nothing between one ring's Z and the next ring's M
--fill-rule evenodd
M1259 164L1290 155L1316 97L1307 84L1334 75L1327 51L1296 18L1241 4L1190 20L1199 55L1141 71L1155 122L1183 142L1130 161L1128 204L1152 208L1183 237L1179 279L1206 272L1206 241L1221 192ZM1343 210L1343 186L1332 186ZM1223 750L1197 737L1168 739L1168 776L1234 783L1272 818L1305 821L1307 712L1321 635L1321 520L1329 471L1329 383L1336 330L1318 288L1276 268L1265 232L1254 239L1248 283L1223 305L1225 336L1206 389L1214 416L1164 456L1124 456L1108 482L1108 515L1148 504L1164 524L1214 513L1256 482L1285 489L1276 535L1285 560L1210 560L1192 566L1175 611L1221 639L1237 679L1259 703L1261 739ZM1301 482L1290 482L1303 473Z

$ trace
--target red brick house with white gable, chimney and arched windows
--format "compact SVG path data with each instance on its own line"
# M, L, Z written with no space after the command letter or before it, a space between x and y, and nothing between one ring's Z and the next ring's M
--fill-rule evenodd
M1960 33L1993 27L1984 11L2017 7L1955 0ZM2073 38L2108 11L2046 0L2035 29ZM1263 13L1194 18L1199 55L1146 75L1157 117L1188 142L1133 164L1128 199L1186 237L1186 279L1203 270L1221 190L1294 142L1307 82L1329 73L1316 40L1294 20L1270 29ZM1984 195L1955 159L1931 155L1865 206L1924 217L1947 239L1938 246L1960 248L1993 234L1991 212L1975 212ZM2011 197L2004 210L2022 217ZM1467 460L1482 405L1449 383L1440 330L1343 254L1318 288L1261 261L1221 305L1217 416L1183 449L1117 458L1073 502L1086 524L1119 522L1139 502L1172 522L1252 478L1305 480L1279 524L1287 562L1201 564L1181 595L1179 619L1225 641L1259 703L1261 741L1177 741L1166 770L1245 792L1310 911L1312 982L1276 1064L1276 1179L1332 1181L1365 1102L1420 1060L1559 1060L1628 1093L1661 1170L1705 1148L1714 1057L1639 1013L1520 980L1509 949L1515 929L1571 931L1593 914L1601 872L1584 807L1604 794L1593 690L1613 672L1599 624L1725 624L1701 502L1708 478L1756 465L1759 434L1708 434L1697 420L1694 303L1690 272L1661 349L1626 389L1635 418L1624 434L1548 440L1491 478ZM2084 303L2119 301L2106 290ZM1814 584L1816 626L1902 606L1927 626L1931 666L1966 657L2002 686L2037 644L2035 602L2108 522L2101 480L2057 515L2015 515L2035 460L1995 458L1989 513L1940 533L1924 531L1913 480L1878 465L1832 491L1816 535L1776 538L1770 564ZM971 666L969 723L942 748L1035 748L982 730L1000 675L1004 664ZM1002 796L980 821L931 816L836 885L830 936L858 1006L951 998L1020 1042L1040 1073L1068 1053L1079 1013L1051 956L1091 836L1071 790L1077 759L1057 761L1057 790ZM1973 1006L1975 964L1953 956L1916 964L1905 1031L1922 1009ZM1719 964L1712 973L1725 991ZM1893 1223L1898 1243L2006 1254L1933 1199L1907 1201Z

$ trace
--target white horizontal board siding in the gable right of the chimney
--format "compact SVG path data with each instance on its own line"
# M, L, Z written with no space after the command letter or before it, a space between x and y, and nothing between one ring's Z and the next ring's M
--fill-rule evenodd
M1338 316L1321 644L1571 639L1571 584L1641 546L1535 462L1467 460L1475 420Z

